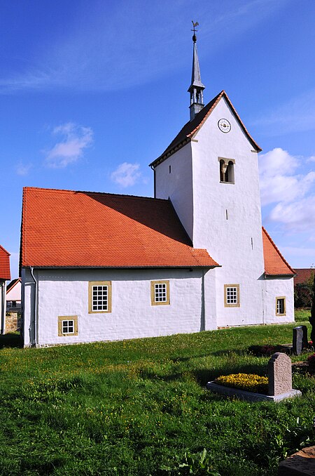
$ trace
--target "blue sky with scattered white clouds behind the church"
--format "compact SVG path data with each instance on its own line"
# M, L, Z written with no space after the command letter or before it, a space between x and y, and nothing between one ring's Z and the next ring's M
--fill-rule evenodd
M18 276L22 187L153 195L148 164L222 89L262 147L262 219L315 264L314 0L5 0L0 4L0 244ZM211 253L211 250L210 250Z

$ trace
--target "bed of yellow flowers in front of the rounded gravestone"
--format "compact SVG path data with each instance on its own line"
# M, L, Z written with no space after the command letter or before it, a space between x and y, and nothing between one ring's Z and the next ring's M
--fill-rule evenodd
M215 383L225 387L239 388L246 392L268 393L268 378L254 373L231 373L216 378Z

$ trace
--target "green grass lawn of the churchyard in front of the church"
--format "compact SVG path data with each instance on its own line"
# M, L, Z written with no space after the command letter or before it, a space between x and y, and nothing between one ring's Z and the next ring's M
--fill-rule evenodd
M221 374L264 375L268 358L247 355L248 345L288 343L293 326L1 348L0 474L276 475L287 451L312 442L315 378L295 374L302 398L279 404L204 385Z

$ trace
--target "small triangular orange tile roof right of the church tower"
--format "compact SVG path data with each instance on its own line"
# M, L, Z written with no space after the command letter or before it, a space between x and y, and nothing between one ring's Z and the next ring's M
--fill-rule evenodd
M264 227L262 227L262 245L264 249L265 275L295 275L295 270L283 258Z

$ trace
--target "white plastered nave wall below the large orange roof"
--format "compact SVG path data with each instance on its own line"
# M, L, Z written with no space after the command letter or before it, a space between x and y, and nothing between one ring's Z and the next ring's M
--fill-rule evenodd
M204 270L204 272L207 270ZM213 270L205 272L207 277ZM216 329L202 319L203 270L34 270L38 279L38 345L166 336ZM29 271L25 282L32 281ZM151 280L169 280L170 305L151 305ZM111 281L112 308L88 313L88 282ZM211 278L210 278L211 281ZM214 290L204 296L211 308ZM34 312L34 284L25 285L25 345ZM58 316L78 316L78 336L58 336ZM209 316L215 319L215 311ZM30 325L31 324L31 325Z

